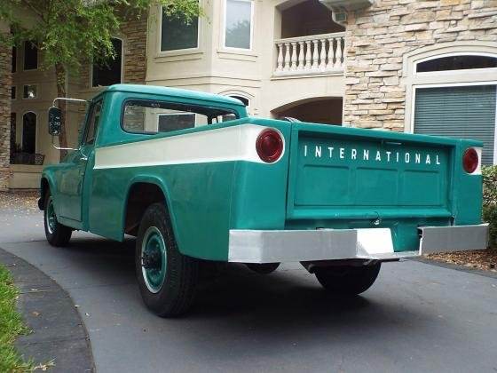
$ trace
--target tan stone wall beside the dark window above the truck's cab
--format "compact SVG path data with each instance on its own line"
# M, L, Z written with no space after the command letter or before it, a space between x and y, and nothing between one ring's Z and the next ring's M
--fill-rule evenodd
M130 16L122 22L121 31L116 37L123 40L123 72L122 83L145 84L146 75L146 31L147 15L140 18ZM82 89L91 88L90 64L84 64L81 71Z

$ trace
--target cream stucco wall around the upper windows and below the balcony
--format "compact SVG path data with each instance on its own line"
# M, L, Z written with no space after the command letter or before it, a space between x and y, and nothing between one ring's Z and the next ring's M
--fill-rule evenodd
M250 100L250 115L264 117L272 116L274 110L278 111L296 101L342 97L342 73L298 77L273 75L277 62L274 40L282 35L305 34L304 27L309 26L282 29L288 28L288 24L296 20L298 12L314 14L314 7L309 4L306 7L303 3L304 0L254 1L251 51L223 46L224 2L201 0L206 14L199 23L199 47L189 51L160 52L160 12L157 8L152 9L149 15L146 83L239 95ZM296 9L293 9L295 5ZM322 7L315 5L318 9ZM328 31L335 28L341 30L333 24L331 12L322 8L326 13L319 14L319 22L314 26L322 31L322 22L328 20ZM288 19L284 18L285 15ZM306 15L304 19L307 20L311 15ZM282 26L282 23L287 26Z

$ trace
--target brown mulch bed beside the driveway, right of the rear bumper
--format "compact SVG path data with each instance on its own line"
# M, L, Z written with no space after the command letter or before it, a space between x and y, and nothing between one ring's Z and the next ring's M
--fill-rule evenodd
M424 258L497 272L497 250L470 250L427 254Z

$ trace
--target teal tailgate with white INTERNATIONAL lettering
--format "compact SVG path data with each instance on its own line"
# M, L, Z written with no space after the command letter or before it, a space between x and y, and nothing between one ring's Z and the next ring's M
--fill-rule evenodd
M287 218L451 217L450 139L344 132L293 124Z

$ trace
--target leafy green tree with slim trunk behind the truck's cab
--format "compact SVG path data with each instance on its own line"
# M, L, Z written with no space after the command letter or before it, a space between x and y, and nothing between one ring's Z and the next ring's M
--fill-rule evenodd
M189 23L201 15L195 0L1 0L0 20L11 28L0 43L31 41L43 53L42 68L53 67L57 94L67 97L67 73L77 73L91 59L105 63L115 56L111 37L123 20L139 18L162 4L164 12ZM65 104L60 105L60 147L67 147ZM61 152L61 158L65 152Z

